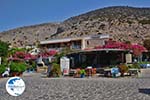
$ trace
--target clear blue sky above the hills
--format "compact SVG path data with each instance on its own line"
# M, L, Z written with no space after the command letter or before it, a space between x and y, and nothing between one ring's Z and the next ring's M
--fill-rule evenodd
M0 32L63 20L109 6L150 7L150 0L0 0Z

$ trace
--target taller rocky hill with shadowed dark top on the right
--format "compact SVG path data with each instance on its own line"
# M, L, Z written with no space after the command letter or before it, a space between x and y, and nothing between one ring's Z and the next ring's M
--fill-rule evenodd
M150 8L108 7L69 18L62 36L111 34L120 41L142 43L150 36Z

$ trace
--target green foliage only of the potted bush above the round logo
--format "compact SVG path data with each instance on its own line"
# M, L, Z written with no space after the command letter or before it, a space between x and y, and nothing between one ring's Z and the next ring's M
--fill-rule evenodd
M11 72L24 72L26 70L26 65L23 62L12 62L10 64Z

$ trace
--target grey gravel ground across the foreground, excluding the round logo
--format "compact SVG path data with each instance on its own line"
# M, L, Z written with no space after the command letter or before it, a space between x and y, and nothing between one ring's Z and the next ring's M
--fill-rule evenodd
M44 78L23 76L26 90L19 97L0 79L0 100L150 100L150 78Z

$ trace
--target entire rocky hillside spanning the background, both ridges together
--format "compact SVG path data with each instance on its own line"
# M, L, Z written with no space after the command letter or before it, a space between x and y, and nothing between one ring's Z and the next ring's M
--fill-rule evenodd
M107 7L62 23L46 23L21 27L0 33L0 39L12 45L35 44L40 40L111 34L115 40L143 43L150 37L150 8Z

